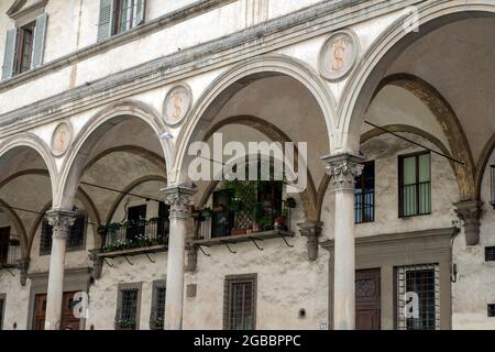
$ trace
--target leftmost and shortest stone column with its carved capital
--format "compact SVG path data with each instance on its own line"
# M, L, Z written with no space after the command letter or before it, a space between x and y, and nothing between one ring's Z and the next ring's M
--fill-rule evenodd
M46 213L53 227L52 255L50 257L48 290L46 297L45 330L59 330L62 298L64 296L64 266L67 237L76 220L76 213L67 210L52 210Z

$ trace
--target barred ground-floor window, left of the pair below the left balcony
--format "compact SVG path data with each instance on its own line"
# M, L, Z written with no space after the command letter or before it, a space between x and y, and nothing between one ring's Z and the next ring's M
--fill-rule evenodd
M118 308L116 315L117 330L139 329L141 284L119 285Z

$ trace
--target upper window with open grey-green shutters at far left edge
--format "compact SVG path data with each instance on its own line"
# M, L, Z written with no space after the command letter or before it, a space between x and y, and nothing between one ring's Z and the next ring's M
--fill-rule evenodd
M23 74L43 63L47 15L7 32L2 79Z

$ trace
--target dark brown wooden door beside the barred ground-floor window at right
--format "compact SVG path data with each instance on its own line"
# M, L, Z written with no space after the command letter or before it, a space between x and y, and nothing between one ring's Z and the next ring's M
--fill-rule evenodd
M381 280L380 268L355 273L355 329L381 329Z

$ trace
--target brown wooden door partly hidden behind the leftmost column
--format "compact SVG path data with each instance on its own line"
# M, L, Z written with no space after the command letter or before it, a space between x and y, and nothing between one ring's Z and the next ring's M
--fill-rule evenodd
M79 319L74 317L74 294L64 293L62 298L61 330L79 330ZM46 294L34 297L34 330L45 329Z

